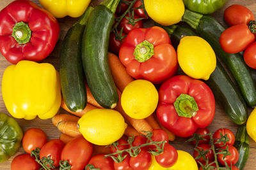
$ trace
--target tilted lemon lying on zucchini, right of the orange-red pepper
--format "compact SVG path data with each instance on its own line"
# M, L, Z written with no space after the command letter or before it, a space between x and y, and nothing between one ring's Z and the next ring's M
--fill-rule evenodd
M211 45L198 36L180 40L177 57L181 69L191 78L208 80L216 67L216 55Z

